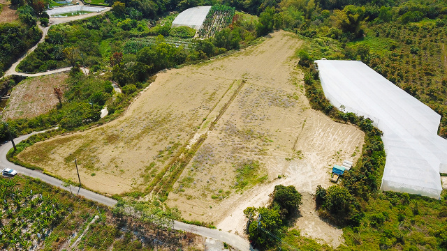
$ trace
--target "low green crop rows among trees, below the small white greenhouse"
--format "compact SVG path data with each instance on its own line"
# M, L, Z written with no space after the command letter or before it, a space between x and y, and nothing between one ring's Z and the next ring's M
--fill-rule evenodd
M145 38L132 38L127 41L123 46L124 54L136 54L139 50L144 47L149 47L158 43L156 36L148 36ZM192 43L192 38L173 38L166 37L163 43L168 43L170 45L175 45L176 47L189 47Z

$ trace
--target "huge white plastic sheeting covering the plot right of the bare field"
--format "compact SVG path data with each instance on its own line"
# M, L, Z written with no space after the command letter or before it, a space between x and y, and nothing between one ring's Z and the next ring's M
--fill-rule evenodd
M332 105L369 117L383 131L381 190L439 199L439 172L447 172L447 140L437 135L441 116L361 61L316 63Z

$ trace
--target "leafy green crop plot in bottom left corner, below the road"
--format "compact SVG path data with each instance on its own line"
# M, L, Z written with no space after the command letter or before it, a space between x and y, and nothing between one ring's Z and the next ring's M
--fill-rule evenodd
M1 250L36 248L67 215L57 197L20 187L17 179L0 178L0 204Z

